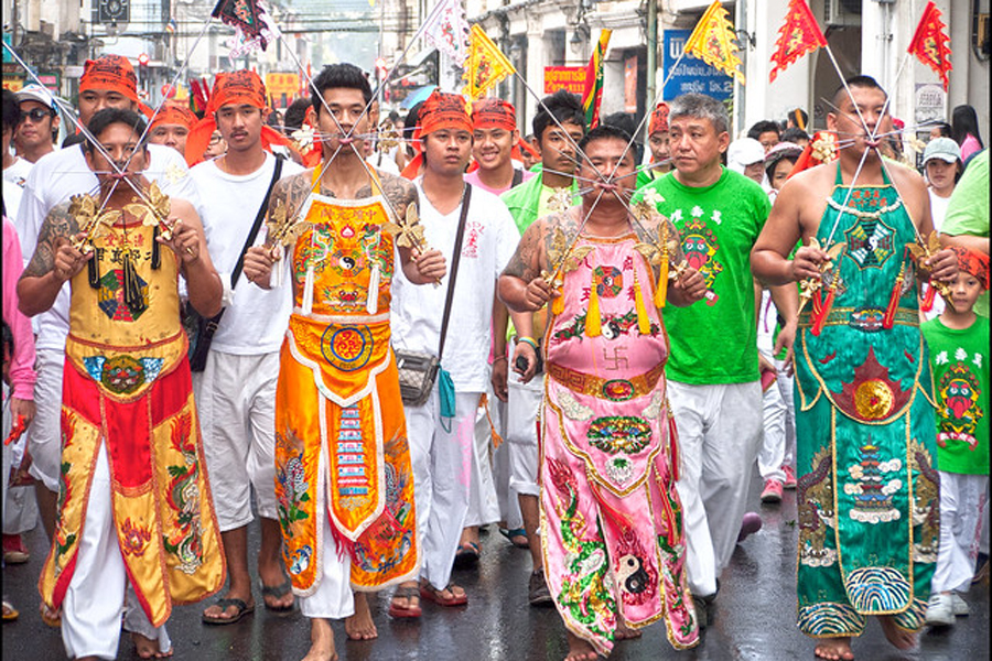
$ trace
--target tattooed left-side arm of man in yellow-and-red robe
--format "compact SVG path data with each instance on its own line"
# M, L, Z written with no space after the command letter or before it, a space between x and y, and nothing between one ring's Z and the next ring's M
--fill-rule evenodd
M31 262L18 282L18 307L26 316L52 307L62 285L93 259L91 251L84 254L71 243L79 234L79 224L68 209L69 203L65 203L48 212L39 230Z

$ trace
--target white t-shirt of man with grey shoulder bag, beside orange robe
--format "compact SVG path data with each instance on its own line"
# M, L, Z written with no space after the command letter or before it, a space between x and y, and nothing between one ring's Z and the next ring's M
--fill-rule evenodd
M428 245L444 254L449 273L440 286L414 285L397 269L392 279L392 344L397 348L436 355L441 317L451 275L455 231L462 206L442 216L431 205L420 181L420 223ZM441 366L451 372L459 392L485 392L488 383L489 335L496 279L514 256L520 232L502 199L472 187L462 258ZM399 256L397 256L397 263Z

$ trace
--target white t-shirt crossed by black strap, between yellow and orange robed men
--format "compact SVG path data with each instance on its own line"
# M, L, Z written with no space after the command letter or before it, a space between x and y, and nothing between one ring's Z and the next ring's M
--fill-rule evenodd
M230 284L230 273L241 256L274 169L276 156L267 153L265 164L251 174L227 174L217 167L216 161L201 163L190 171L202 193L203 229L207 249L225 285ZM300 172L303 172L300 165L284 160L280 178ZM255 245L262 245L265 238L262 227ZM214 334L211 349L239 356L278 351L282 346L292 308L289 278L283 279L280 288L263 290L249 282L241 273L235 285L231 303Z

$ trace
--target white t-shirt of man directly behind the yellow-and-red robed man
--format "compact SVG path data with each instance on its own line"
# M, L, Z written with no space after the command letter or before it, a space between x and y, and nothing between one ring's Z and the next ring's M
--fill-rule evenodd
M185 199L200 212L200 196L196 186L190 178L190 169L183 156L171 147L161 144L148 145L148 167L144 176L159 183L162 193L170 197ZM121 184L127 185L127 184ZM83 148L74 144L66 149L45 154L34 164L24 185L24 196L14 225L21 239L24 263L34 254L37 234L48 212L73 195L96 193L99 181L86 164ZM37 349L65 350L65 336L68 335L69 311L68 283L55 299L55 304L36 318Z

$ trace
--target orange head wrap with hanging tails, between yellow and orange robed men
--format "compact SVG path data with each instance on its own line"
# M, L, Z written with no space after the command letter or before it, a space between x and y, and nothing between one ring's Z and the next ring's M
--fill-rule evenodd
M203 119L196 122L186 139L186 162L190 165L198 163L203 159L203 152L211 142L211 136L217 130L215 117L217 110L231 105L266 107L266 85L258 74L248 69L217 74L206 112L204 112ZM272 144L289 147L290 140L272 127L263 124L261 143L265 150L272 151Z

